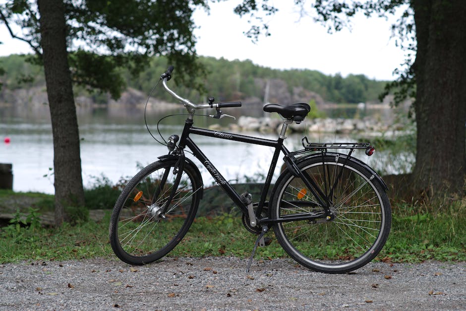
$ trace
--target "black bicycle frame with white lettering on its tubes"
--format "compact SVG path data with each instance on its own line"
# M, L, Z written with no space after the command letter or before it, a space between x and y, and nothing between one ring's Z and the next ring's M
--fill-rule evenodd
M233 202L239 207L239 209L244 214L247 214L247 206L241 199L238 192L234 190L234 188L230 185L230 183L215 168L215 166L210 162L210 160L205 156L205 154L199 149L199 147L189 137L189 134L196 134L196 135L202 135L202 136L207 136L207 137L227 139L227 140L233 140L233 141L239 141L239 142L244 142L244 143L249 143L249 144L255 144L255 145L268 146L268 147L275 148L275 152L272 158L272 162L270 164L269 172L267 173L267 178L265 180L264 187L262 188L259 205L256 210L257 219L261 219L260 215L262 213L262 209L265 204L267 193L269 191L272 178L273 178L273 174L277 166L278 157L281 151L285 155L284 160L287 163L287 166L291 166L292 171L294 171L293 174L300 177L302 181L304 182L304 184L306 185L306 187L308 187L311 190L311 192L314 194L318 203L321 206L325 207L326 210L329 210L329 206L330 206L329 199L322 192L322 190L316 185L316 183L312 180L312 178L309 177L309 175L307 175L305 172L303 174L302 172L299 171L299 169L297 168L294 162L294 157L291 156L290 151L288 151L288 149L283 144L284 137L279 136L277 140L271 140L271 139L265 139L265 138L259 138L259 137L253 137L253 136L245 136L245 135L240 135L240 134L235 134L235 133L227 133L227 132L221 132L221 131L210 130L210 129L205 129L205 128L193 127L192 124L193 124L192 119L186 119L183 132L179 140L178 147L180 149L184 149L185 147L188 147L192 151L193 155L202 163L202 165L204 165L204 167L207 169L210 175L212 175L214 180L219 184L220 187L224 189L224 191L228 194L228 196L233 200ZM327 213L326 213L326 216L327 216ZM291 217L286 217L285 219L268 219L267 218L267 219L261 219L259 224L275 223L275 222L283 222L283 221L291 221L291 220L309 220L309 219L315 219L315 218L321 218L321 217L310 216L309 214L303 214L303 215L294 215Z

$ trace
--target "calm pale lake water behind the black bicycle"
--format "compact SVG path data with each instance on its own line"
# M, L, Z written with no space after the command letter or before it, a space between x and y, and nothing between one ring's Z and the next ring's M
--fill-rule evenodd
M173 113L184 113L183 110L151 112L148 115L150 128L155 135L156 124L162 117ZM168 137L180 135L185 116L165 119L160 126L161 133ZM227 120L225 120L227 119ZM195 125L207 127L219 120L195 117ZM228 118L221 120L228 125ZM234 122L234 121L233 121ZM144 125L141 109L78 109L79 133L81 138L81 162L84 187L91 187L96 178L105 176L112 183L122 177L136 174L140 166L157 161L157 157L168 153L167 147L157 143L148 133ZM276 139L274 134L243 133L268 139ZM4 138L10 139L4 143ZM158 136L156 136L158 137ZM288 135L287 148L297 150L301 146L299 135ZM351 137L341 136L309 136L311 141L334 142L354 141ZM53 139L50 116L47 106L24 109L21 107L0 107L0 163L13 164L13 190L40 191L54 193L53 187ZM273 156L270 147L244 144L229 140L212 139L193 136L193 140L229 181L244 181L245 176L253 177L266 174ZM302 147L301 147L302 148ZM375 153L367 157L363 152L357 153L369 165L383 169L385 173L397 173L397 167L388 163L387 152ZM409 159L410 155L402 155ZM199 162L204 184L211 185L214 180ZM401 160L401 161L405 161ZM393 160L390 160L393 162ZM390 162L389 161L389 162ZM283 161L279 163L279 166ZM278 176L279 169L275 174Z

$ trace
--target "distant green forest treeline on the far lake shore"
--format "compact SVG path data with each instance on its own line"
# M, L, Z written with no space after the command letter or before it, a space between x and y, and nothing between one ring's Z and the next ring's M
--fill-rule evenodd
M17 89L45 85L43 68L26 62L27 57L11 55L0 58L0 67L5 71L0 76L3 88ZM215 96L217 101L244 100L253 97L263 100L267 81L275 82L275 85L277 81L281 82L280 85L285 85L283 92L290 94L295 93L296 89L317 93L325 102L378 102L378 95L382 93L386 84L386 81L372 80L362 74L349 74L343 77L338 73L325 75L307 69L279 70L258 66L251 61L228 61L211 57L200 57L199 61L205 65L207 71L205 77L197 80L204 85L204 90L199 91L190 85L179 84L179 79L176 79L176 68L173 73L174 81L178 82L172 84L176 92L195 102L203 102L210 95ZM127 70L122 70L122 75L128 87L149 93L167 66L166 58L154 57L139 76L133 77ZM84 92L84 90L75 89L75 92ZM157 88L152 95L161 100L172 100L163 88ZM90 96L102 103L108 99L106 94Z

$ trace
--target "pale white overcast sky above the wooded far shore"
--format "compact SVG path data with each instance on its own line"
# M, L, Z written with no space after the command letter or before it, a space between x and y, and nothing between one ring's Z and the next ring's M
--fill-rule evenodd
M252 43L243 32L250 27L248 18L240 18L233 8L241 0L211 3L210 14L197 9L193 19L198 55L227 60L251 60L276 69L311 69L325 74L364 74L370 79L393 80L393 70L405 60L405 53L390 38L391 24L396 18L356 15L351 31L344 29L328 34L312 17L300 18L291 1L270 1L279 11L268 17L271 36ZM17 34L20 29L15 29ZM31 53L27 44L12 40L0 24L0 56Z

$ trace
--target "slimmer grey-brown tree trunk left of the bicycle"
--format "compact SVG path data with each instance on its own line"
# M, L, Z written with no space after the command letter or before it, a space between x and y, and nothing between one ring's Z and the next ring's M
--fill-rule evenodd
M66 23L61 0L38 0L41 46L54 137L55 224L64 208L83 206L79 132L66 51Z

